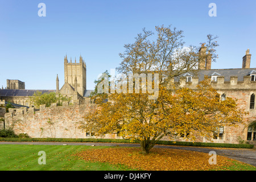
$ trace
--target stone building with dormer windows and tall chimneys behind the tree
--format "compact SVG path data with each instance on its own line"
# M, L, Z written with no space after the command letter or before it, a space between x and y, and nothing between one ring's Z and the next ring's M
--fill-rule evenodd
M205 47L201 47L201 53L205 52ZM209 55L209 54L208 54ZM208 76L212 81L212 86L221 96L221 100L231 97L237 100L240 108L249 112L246 115L246 125L238 127L222 127L217 134L213 134L213 142L218 143L238 143L239 141L255 141L256 139L256 68L250 68L251 54L247 49L242 58L242 68L236 69L211 69L211 56L199 62L197 70L192 70L171 80L172 84L180 87L196 89L197 84ZM179 138L178 141L184 139ZM197 138L197 142L209 142L204 138ZM255 143L255 142L254 142Z

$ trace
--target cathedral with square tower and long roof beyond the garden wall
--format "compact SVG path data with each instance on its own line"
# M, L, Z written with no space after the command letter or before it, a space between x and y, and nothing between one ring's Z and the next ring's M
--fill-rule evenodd
M93 90L86 90L86 64L80 55L79 63L68 63L67 55L64 57L64 85L59 89L59 77L56 78L56 90L34 90L25 89L25 82L19 80L8 80L6 89L0 89L0 100L10 101L14 104L32 106L30 96L36 92L56 92L57 96L71 97L71 102L79 100L84 102Z

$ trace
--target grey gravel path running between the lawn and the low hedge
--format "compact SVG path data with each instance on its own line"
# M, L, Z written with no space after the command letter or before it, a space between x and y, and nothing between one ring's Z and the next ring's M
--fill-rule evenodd
M0 142L0 144L46 144L46 145L85 145L85 146L123 146L123 147L140 147L139 144L132 143L93 143L93 142ZM176 148L181 150L190 150L197 152L209 153L215 151L217 155L226 156L231 159L239 160L243 163L251 164L256 167L256 150L245 148L210 148L210 147L185 147L185 146L164 146L155 145L160 148Z

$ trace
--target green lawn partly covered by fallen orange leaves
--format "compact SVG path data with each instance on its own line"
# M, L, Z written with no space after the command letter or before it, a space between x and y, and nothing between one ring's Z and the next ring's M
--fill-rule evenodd
M62 145L29 145L29 144L0 144L0 171L124 171L139 170L136 167L128 167L124 164L112 164L110 162L89 161L79 159L75 154L84 151L106 150L107 146L62 146ZM165 149L166 150L166 149ZM38 164L39 151L46 152L46 164ZM112 150L114 151L114 150ZM133 151L130 156L133 156ZM93 153L92 153L93 154ZM139 154L139 153L138 153ZM138 155L136 154L136 155ZM192 154L192 151L191 151ZM108 155L108 154L106 154ZM154 157L158 154L152 154ZM175 153L174 155L180 155ZM113 156L113 154L112 154ZM130 156L127 156L128 158ZM135 155L134 155L135 156ZM113 158L117 158L114 156ZM136 159L139 160L139 159ZM109 160L110 161L110 160ZM232 160L233 165L221 167L218 170L249 170L255 171L255 167ZM182 165L182 163L181 163Z

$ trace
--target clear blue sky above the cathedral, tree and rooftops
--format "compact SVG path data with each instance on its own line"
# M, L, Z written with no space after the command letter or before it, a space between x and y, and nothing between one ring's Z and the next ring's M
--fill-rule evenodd
M46 4L46 17L38 4ZM210 17L209 3L217 16ZM87 89L104 72L118 67L123 46L155 26L184 31L185 45L199 46L217 35L219 58L212 68L241 68L247 48L256 68L256 1L3 1L0 0L0 86L6 79L24 81L26 89L56 89L64 84L64 56L87 67Z

